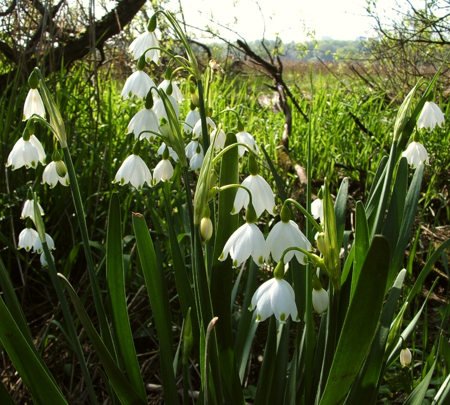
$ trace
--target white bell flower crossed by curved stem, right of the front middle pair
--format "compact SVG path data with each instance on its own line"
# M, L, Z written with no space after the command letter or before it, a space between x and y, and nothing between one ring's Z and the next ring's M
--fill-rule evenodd
M280 260L281 254L288 247L301 247L307 251L313 250L311 243L292 220L288 222L281 220L275 223L267 236L266 243L267 250L271 252L272 258L276 262ZM299 263L305 264L307 262L306 255L298 250L289 250L284 255L284 262L290 261L294 255Z

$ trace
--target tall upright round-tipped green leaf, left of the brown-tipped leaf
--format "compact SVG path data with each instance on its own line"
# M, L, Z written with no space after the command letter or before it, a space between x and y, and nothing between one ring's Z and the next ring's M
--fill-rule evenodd
M117 193L113 192L109 203L106 236L106 280L108 283L109 312L118 352L128 380L141 399L145 401L147 395L140 375L126 308L121 225L120 202Z

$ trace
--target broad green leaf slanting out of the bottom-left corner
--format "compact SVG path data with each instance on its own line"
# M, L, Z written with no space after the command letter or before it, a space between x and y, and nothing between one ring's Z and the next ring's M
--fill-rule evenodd
M17 324L0 298L0 340L26 387L41 404L67 405L49 371L28 345Z

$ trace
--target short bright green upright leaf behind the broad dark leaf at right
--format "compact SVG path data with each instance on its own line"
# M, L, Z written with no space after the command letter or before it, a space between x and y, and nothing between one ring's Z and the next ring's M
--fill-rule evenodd
M351 279L350 300L353 297L356 289L359 273L361 272L364 263L365 255L370 246L370 235L367 225L367 218L365 217L364 205L361 201L356 202L355 224L354 224L354 260L353 273Z

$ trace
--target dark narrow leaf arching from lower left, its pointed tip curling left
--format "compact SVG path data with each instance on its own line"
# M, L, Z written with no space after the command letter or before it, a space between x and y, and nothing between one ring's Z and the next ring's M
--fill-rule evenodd
M58 276L67 287L67 291L70 295L70 299L73 302L76 313L78 314L78 317L84 326L84 330L87 336L89 336L90 341L92 342L95 353L98 355L101 363L103 364L104 370L106 371L106 374L109 378L109 382L114 388L114 391L117 394L118 398L122 402L122 405L145 404L146 401L142 400L142 398L134 390L134 388L123 375L120 368L115 363L114 359L103 343L103 340L101 340L101 337L95 330L95 327L89 319L89 315L84 309L83 304L81 303L71 284L62 274L58 273Z

